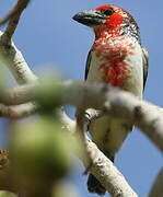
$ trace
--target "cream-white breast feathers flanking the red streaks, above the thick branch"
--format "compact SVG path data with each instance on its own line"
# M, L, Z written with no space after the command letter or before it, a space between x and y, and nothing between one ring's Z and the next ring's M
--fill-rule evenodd
M136 43L136 42L131 43L132 40L130 40L130 39L129 40L119 40L119 42L120 42L120 47L118 48L118 51L117 50L115 51L116 53L115 56L117 56L117 54L119 54L119 56L123 56L123 53L124 53L123 50L124 50L125 46L132 45L131 48L129 48L127 46L126 50L128 50L128 48L129 48L130 51L129 53L127 51L123 61L121 62L119 61L119 63L117 65L117 67L119 67L119 69L120 69L123 63L125 63L126 65L125 69L128 69L128 71L129 71L129 77L127 79L125 79L125 77L124 77L125 80L123 82L123 85L119 88L133 93L136 96L141 97L142 89L143 89L143 66L142 66L143 62L142 62L141 46L139 43ZM124 42L124 44L123 44L123 42ZM104 71L104 69L102 69L101 66L105 65L108 68L113 67L112 61L109 60L109 56L112 58L114 56L114 53L112 53L112 55L110 55L109 50L113 50L113 47L116 47L116 46L117 46L117 44L114 46L109 46L109 44L107 47L105 46L105 50L107 50L105 53L105 56L107 57L107 54L108 54L108 58L98 56L97 51L96 51L97 48L95 50L92 50L92 59L90 62L91 65L90 65L90 70L88 73L86 81L105 82L105 80L104 80L105 71ZM120 49L121 49L121 51L120 51ZM101 50L101 48L100 48L100 50ZM118 56L117 56L117 58L118 58ZM119 71L119 73L117 73L116 78L123 79L124 73L125 72ZM108 73L108 77L109 77L109 73ZM110 78L112 78L112 76L110 76ZM107 83L112 84L112 80L108 80ZM118 85L116 85L116 86L118 86Z

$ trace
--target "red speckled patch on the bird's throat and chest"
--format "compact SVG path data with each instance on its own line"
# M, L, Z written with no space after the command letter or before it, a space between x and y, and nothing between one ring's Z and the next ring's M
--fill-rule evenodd
M103 81L121 88L130 78L131 69L126 59L133 55L135 42L126 35L114 36L104 32L104 35L94 42L92 50L101 60L98 69L102 71Z

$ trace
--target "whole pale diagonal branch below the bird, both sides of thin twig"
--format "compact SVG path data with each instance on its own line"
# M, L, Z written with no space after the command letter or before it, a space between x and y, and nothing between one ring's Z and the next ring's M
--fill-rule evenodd
M63 126L68 129L70 134L77 135L74 132L75 121L71 120L63 112L60 114ZM73 132L72 132L73 131ZM137 197L137 194L131 189L131 187L126 182L123 174L114 166L113 162L107 159L103 152L101 152L96 144L93 143L86 137L86 150L91 155L91 167L90 158L77 155L83 162L85 167L101 182L101 184L106 188L106 190L113 197Z

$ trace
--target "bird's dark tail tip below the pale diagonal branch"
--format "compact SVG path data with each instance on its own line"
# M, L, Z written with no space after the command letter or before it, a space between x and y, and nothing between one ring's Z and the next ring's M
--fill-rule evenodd
M96 193L96 194L98 194L101 196L106 193L106 189L103 187L103 185L92 174L89 175L88 190L90 193Z

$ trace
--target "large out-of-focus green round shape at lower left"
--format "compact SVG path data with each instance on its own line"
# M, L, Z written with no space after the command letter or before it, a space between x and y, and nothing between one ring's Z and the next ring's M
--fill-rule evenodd
M74 139L49 116L14 126L10 152L18 179L30 189L50 187L73 166Z

